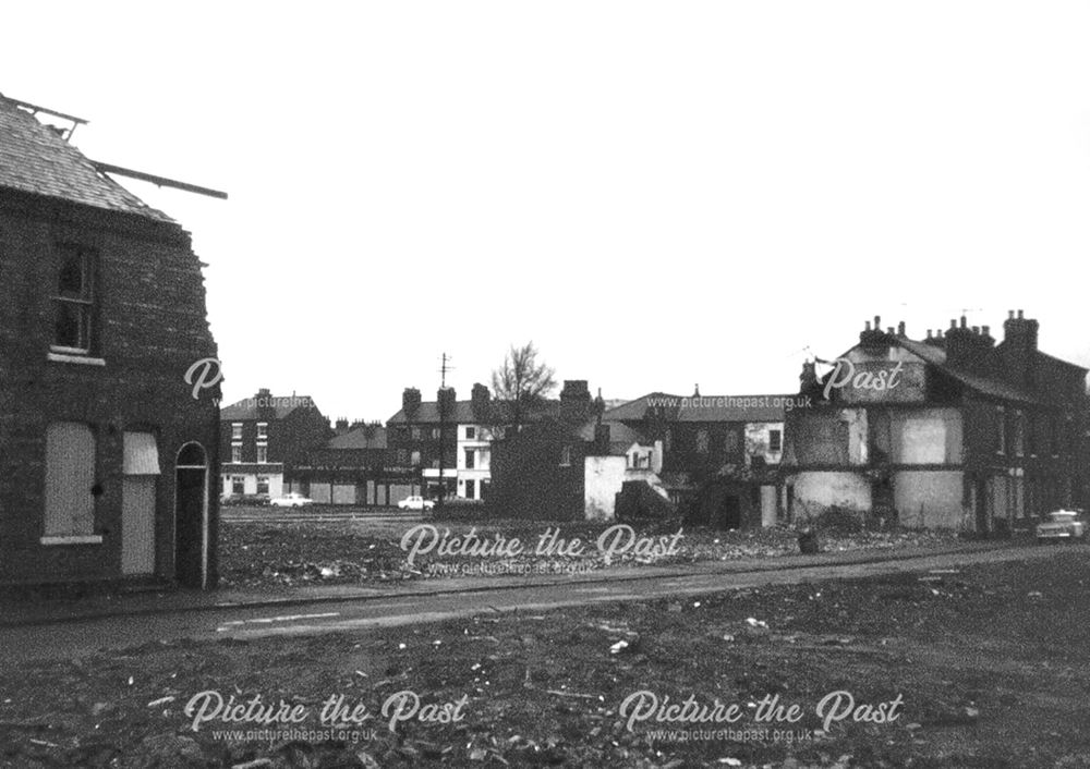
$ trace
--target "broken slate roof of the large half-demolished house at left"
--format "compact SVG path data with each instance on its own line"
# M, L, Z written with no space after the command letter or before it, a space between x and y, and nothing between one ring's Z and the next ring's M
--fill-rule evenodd
M0 94L0 188L177 223L112 179L48 125Z

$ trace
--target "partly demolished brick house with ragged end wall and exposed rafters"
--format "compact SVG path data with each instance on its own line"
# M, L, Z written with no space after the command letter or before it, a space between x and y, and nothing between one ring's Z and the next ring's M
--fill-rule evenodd
M0 582L216 583L190 235L0 96Z

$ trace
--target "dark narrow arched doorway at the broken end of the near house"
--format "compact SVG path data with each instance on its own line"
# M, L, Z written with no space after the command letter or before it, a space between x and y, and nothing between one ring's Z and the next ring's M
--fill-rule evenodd
M174 576L185 587L208 582L208 459L186 443L174 463Z

